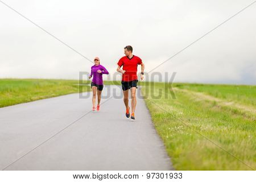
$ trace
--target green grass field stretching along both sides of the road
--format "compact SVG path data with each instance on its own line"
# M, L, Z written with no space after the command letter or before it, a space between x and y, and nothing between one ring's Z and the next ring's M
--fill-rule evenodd
M173 98L164 83L139 84L175 169L256 168L256 86L175 83ZM0 79L0 107L77 92L77 80Z

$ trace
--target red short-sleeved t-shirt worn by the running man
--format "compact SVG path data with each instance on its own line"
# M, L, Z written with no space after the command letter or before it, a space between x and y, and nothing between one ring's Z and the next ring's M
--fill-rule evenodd
M125 71L125 73L123 73L122 81L138 80L137 67L138 64L142 64L141 58L134 55L131 58L123 56L117 64L119 67L123 66L123 70Z

